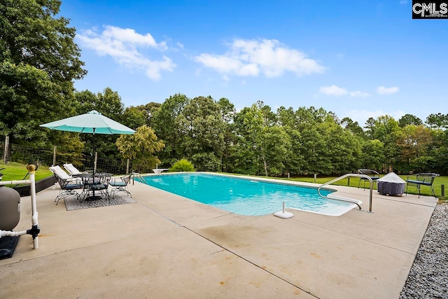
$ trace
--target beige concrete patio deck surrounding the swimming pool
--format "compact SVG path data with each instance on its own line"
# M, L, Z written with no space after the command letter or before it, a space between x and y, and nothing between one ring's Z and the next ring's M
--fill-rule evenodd
M331 188L368 209L367 190ZM0 260L0 298L398 298L437 202L374 191L374 213L284 220L137 182L137 203L111 207L66 211L58 192L37 194L39 248L24 235ZM31 227L30 202L15 230Z

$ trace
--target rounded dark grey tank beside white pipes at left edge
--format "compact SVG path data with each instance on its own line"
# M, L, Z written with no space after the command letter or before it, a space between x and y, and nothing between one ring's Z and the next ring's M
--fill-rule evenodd
M19 221L20 194L13 188L0 186L0 230L13 230Z

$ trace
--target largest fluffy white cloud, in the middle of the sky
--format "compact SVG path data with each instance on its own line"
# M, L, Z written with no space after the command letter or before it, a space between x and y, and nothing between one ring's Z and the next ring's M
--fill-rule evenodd
M279 41L263 39L262 41L235 39L228 44L230 50L223 55L202 53L195 57L204 67L209 67L221 74L235 76L266 77L283 76L291 71L297 76L321 73L325 68L307 58L304 53L281 47Z

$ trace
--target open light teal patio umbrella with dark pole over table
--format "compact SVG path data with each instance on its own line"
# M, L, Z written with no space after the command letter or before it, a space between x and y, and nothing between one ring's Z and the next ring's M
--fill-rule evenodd
M56 120L51 123L45 123L41 125L41 127L48 127L50 130L93 134L93 153L95 152L95 134L111 135L135 133L135 131L130 127L117 123L115 120L111 120L111 118L103 116L96 110L92 110L78 116L64 118L62 120ZM93 176L94 171L95 167L93 167Z

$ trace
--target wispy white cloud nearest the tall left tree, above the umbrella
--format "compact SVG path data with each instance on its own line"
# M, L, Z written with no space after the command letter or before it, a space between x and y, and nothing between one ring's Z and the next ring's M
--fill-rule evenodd
M176 64L171 58L162 55L153 60L142 51L147 48L166 50L165 41L157 43L151 34L138 34L134 29L104 26L104 31L86 30L78 34L77 39L85 48L94 50L98 55L109 55L119 64L131 69L144 69L146 76L153 80L160 78L160 71L172 71Z

